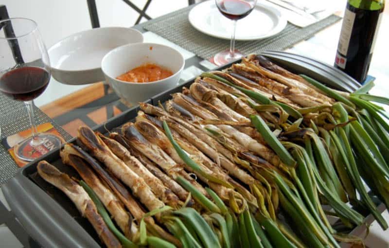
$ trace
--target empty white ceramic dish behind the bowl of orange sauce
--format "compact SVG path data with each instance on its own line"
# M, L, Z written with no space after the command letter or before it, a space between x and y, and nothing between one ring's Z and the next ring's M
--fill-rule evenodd
M101 60L114 48L143 42L138 30L124 27L95 28L70 35L48 53L53 77L61 83L80 85L104 81Z

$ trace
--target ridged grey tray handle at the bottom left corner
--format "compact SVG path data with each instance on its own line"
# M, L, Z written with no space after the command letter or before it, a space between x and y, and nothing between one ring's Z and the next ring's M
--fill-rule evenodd
M43 247L99 247L69 213L20 172L1 187L12 212Z

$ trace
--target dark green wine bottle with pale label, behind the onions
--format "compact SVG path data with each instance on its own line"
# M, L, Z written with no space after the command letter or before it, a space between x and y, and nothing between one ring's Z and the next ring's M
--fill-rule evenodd
M385 0L348 0L335 67L363 83L369 71Z

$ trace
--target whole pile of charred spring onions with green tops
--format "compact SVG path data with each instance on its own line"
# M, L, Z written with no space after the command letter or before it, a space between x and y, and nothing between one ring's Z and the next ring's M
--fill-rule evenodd
M363 208L388 228L363 183L389 207L389 114L380 106L389 99L368 94L373 86L340 92L249 55L224 71L202 73L164 106L141 103L136 122L110 134L115 141L80 127L87 149L67 144L61 157L91 186L80 182L90 197L53 166L38 172L80 207L66 187L78 186L72 190L89 203L87 217L108 247L359 243L332 226L326 213L353 229L364 224ZM96 188L100 179L104 187ZM103 189L117 196L116 205L101 198L109 212L116 206L115 213L127 216L119 224L113 214L125 236L98 198ZM324 211L324 204L332 209ZM135 223L131 235L126 222Z

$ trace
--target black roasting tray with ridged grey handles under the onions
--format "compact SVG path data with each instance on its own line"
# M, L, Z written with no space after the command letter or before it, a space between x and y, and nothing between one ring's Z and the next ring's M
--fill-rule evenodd
M272 58L271 54L266 54L266 56ZM303 72L311 77L318 78L318 71L307 70L306 67L298 64L296 60L288 60L287 56L284 56L284 59L280 59L280 55L277 54L275 61L291 71ZM231 64L217 70L230 67ZM301 70L301 68L304 70ZM328 70L328 68L329 66L327 65L321 70ZM153 105L158 105L159 101L163 103L171 98L170 95L172 93L180 92L182 87L189 87L193 81L194 79L191 79L175 89L152 97L146 102ZM343 88L338 82L330 83L332 86L337 86L336 88L338 89ZM111 118L106 124L97 126L94 130L106 133L107 130L112 130L128 121L134 120L138 110L139 106L131 108L121 115ZM75 139L72 139L70 142L75 142ZM62 172L78 177L70 166L64 165L61 162L58 150L47 154L42 159L49 161ZM74 248L102 246L88 220L81 217L71 200L60 190L37 176L36 165L37 161L26 165L18 172L15 178L2 186L2 191L12 212L15 213L28 234L43 247ZM379 205L380 212L385 210L385 205L378 199L376 199L376 204ZM371 214L366 216L368 225L373 220ZM357 227L351 233L356 234L364 228ZM350 230L348 232L350 233Z

